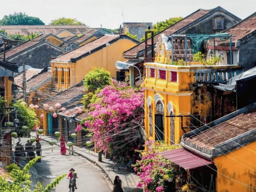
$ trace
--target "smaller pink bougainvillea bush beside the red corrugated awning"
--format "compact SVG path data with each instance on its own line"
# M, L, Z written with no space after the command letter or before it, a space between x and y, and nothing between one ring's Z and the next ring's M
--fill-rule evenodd
M174 178L174 164L158 155L164 150L179 148L178 145L168 145L166 143L154 144L153 141L145 142L149 150L144 150L141 160L137 160L134 165L134 171L140 176L140 182L137 187L145 186L146 192L164 192L166 182L169 178Z

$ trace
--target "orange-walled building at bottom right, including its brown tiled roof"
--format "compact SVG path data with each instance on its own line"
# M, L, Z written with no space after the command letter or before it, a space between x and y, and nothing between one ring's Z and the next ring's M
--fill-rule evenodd
M208 188L212 174L218 192L256 191L255 110L253 103L182 137L184 149L212 162L201 163L204 169L200 169L202 175L208 175ZM196 178L198 169L187 171Z

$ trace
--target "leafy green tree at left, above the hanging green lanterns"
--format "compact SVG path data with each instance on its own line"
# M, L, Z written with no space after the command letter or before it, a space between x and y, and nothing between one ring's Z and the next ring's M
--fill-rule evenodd
M21 126L25 125L29 129L32 129L38 123L34 109L28 108L23 104L22 100L12 103L10 107L17 109L17 118L19 119Z

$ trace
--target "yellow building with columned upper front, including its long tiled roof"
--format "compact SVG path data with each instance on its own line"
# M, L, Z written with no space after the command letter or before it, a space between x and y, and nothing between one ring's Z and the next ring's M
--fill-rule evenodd
M104 68L116 78L116 61L124 61L122 53L137 43L126 35L104 35L53 59L52 76L56 87L63 90L79 83L93 67Z

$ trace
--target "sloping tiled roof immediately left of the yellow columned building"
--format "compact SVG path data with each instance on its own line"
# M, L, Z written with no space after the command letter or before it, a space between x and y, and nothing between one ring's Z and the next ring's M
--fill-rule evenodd
M26 84L27 90L28 91L36 90L39 87L43 86L44 84L51 82L51 80L52 80L52 72L46 71L32 79L29 79Z

